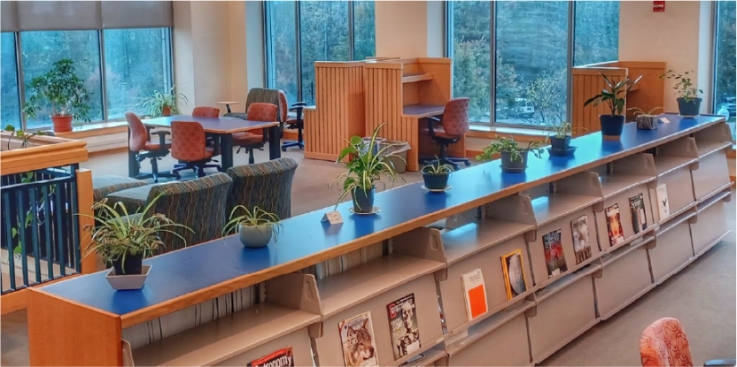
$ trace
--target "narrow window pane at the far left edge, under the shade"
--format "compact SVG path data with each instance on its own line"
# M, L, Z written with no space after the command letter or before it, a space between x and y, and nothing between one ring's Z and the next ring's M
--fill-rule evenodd
M0 113L0 128L12 125L20 128L20 103L18 92L18 66L15 57L15 34L3 32L0 38L0 73L3 74L0 81L2 89L2 109Z

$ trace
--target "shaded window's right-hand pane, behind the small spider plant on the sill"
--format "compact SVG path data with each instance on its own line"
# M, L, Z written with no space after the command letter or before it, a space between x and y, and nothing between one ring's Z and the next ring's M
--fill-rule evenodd
M105 29L107 119L143 114L141 102L171 85L168 28Z

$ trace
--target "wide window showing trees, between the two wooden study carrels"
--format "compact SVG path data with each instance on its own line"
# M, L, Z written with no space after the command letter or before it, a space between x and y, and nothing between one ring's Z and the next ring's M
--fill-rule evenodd
M448 3L454 96L470 97L472 121L555 126L567 119L570 53L575 65L618 54L618 2L584 3L574 11L562 1Z

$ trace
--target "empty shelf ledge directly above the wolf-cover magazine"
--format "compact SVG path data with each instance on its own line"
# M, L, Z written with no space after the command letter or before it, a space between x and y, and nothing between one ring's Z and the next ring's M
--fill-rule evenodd
M322 315L328 318L413 279L443 269L444 263L392 254L318 280Z

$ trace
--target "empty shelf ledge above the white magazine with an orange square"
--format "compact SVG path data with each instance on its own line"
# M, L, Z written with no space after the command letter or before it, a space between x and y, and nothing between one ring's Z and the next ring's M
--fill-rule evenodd
M535 226L524 223L485 218L478 224L472 223L443 233L448 266L534 229Z

